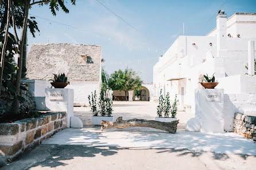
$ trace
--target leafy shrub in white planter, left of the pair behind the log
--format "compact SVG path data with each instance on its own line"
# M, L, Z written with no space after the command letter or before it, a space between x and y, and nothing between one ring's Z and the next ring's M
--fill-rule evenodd
M96 101L96 90L88 96L89 104L92 110L92 125L100 125L102 120L113 121L111 98L106 96L106 92L100 92L99 102ZM100 116L99 116L100 114Z

